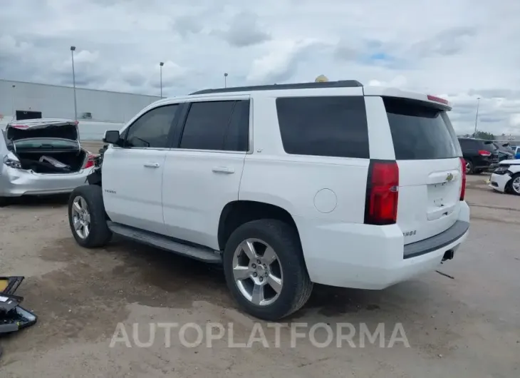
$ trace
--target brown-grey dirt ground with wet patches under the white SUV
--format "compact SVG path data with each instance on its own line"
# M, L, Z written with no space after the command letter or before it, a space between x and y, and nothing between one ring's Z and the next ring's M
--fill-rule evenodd
M235 342L246 342L256 320L236 309L217 267L122 240L83 249L66 198L19 200L0 208L0 273L26 276L17 294L38 323L0 339L0 377L520 377L520 198L493 193L484 179L469 178L470 236L439 268L453 279L430 272L383 291L315 286L286 320L370 330L383 322L387 345L401 323L410 347L390 348L356 337L354 346L319 348L307 337L291 347L286 326L279 347L230 348L224 337L189 348L178 332L166 347L164 331L138 347L134 323L145 336L150 323L232 323ZM120 322L130 347L110 347Z

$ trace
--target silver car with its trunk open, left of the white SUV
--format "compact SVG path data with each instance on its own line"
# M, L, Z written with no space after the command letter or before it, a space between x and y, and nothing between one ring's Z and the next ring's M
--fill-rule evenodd
M85 183L95 156L81 148L76 121L8 123L0 136L0 204L21 195L71 192Z

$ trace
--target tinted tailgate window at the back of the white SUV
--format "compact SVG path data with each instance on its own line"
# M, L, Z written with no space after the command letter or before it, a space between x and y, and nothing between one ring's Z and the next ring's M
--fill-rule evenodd
M383 98L383 102L396 160L457 157L457 137L445 111L401 98Z

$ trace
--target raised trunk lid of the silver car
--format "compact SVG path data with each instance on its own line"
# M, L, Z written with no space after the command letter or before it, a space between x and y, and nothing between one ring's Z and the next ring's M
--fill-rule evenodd
M31 138L59 138L78 141L78 123L58 118L14 121L6 126L6 138L9 141Z

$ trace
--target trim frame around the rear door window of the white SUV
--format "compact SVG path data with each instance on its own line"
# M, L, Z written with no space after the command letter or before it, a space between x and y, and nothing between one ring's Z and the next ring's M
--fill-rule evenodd
M209 103L209 102L222 102L222 101L233 101L234 107L236 106L237 101L249 101L249 128L247 131L247 148L245 151L232 151L232 150L199 150L194 148L180 148L180 142L182 140L182 134L184 133L184 127L186 126L186 121L189 114L189 109L192 108L193 103ZM233 107L233 109L234 109ZM184 108L182 109L182 113L180 113L179 123L177 123L175 136L172 141L172 150L178 151L195 151L195 152L209 152L209 153L238 153L243 155L253 153L253 99L251 96L230 96L230 97L211 97L211 98L192 98L187 100L184 103ZM229 128L229 125L228 125Z

